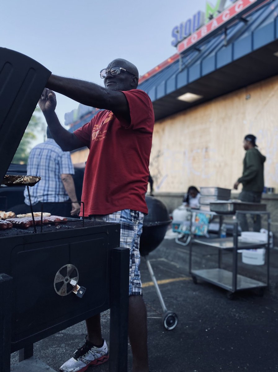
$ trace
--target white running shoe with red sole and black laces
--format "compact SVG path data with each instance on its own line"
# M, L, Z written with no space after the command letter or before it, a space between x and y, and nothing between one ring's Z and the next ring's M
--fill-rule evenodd
M65 362L59 369L60 372L83 372L89 366L97 366L106 362L109 358L108 347L103 340L101 347L93 346L92 343L87 341L82 347L76 350L73 354L73 358Z

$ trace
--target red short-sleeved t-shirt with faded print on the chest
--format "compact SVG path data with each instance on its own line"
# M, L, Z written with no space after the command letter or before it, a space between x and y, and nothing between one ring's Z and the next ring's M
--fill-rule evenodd
M122 209L148 212L145 193L154 126L153 105L143 90L122 93L130 108L129 126L121 123L112 111L103 110L74 131L90 149L82 190L85 216Z

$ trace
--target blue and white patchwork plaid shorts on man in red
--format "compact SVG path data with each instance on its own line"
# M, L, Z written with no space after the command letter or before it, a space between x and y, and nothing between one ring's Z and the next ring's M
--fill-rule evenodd
M121 225L121 247L127 247L130 250L130 287L129 295L141 295L142 284L140 278L140 253L139 241L143 228L144 213L124 209L106 215L90 215L93 221L114 222Z

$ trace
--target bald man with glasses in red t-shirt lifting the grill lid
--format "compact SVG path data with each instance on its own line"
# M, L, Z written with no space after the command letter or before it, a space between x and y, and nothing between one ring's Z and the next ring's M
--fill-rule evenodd
M82 191L84 215L96 221L121 224L121 246L130 249L128 333L133 355L132 372L149 372L139 239L148 211L145 194L154 126L153 106L148 95L137 89L138 70L130 62L114 60L100 76L104 79L104 88L87 81L51 75L39 106L54 140L64 151L84 146L90 149ZM55 114L56 97L52 90L104 110L72 134L61 126ZM61 366L61 372L82 372L89 365L108 359L100 315L87 319L86 325L86 343Z

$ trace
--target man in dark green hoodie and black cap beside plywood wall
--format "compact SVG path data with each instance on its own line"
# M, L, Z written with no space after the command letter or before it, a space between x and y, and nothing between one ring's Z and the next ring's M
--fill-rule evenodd
M266 157L256 148L256 137L253 134L247 134L243 141L243 148L246 150L243 159L243 174L234 184L234 189L242 183L242 192L239 199L242 202L260 203L263 191L263 163ZM245 215L240 216L240 227L242 231L248 231L248 222ZM261 218L259 215L254 216L253 231L260 231Z

